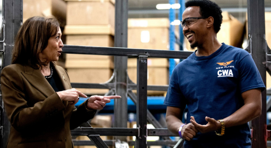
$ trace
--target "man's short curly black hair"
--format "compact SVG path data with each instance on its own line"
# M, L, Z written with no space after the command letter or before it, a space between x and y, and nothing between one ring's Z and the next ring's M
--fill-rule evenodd
M213 17L214 18L214 31L216 33L219 32L221 24L222 24L222 11L221 8L214 2L210 0L190 0L185 3L185 7L190 6L199 6L200 14L203 17Z

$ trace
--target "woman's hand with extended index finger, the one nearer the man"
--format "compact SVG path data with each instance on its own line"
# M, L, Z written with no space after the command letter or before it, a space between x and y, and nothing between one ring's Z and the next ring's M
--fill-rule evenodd
M110 99L119 99L121 96L91 96L88 99L88 110L102 110L106 103L110 102Z

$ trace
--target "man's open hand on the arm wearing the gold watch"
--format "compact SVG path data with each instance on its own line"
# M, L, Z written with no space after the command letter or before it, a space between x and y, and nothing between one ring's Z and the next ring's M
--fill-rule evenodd
M205 117L205 120L208 122L206 125L198 124L194 118L194 116L191 116L190 122L195 126L197 130L199 130L201 133L207 133L211 131L216 131L221 128L221 123L219 121L216 121L214 118Z

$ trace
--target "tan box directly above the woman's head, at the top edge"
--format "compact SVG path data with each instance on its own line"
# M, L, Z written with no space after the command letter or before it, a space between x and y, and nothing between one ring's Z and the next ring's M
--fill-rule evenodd
M65 24L66 9L64 0L23 0L23 21L33 16L55 16Z

